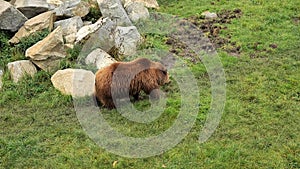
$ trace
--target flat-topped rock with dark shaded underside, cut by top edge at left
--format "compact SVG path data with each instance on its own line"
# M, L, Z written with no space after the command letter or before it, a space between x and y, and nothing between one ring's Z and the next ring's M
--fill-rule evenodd
M46 0L14 0L13 5L27 18L37 16L49 9Z

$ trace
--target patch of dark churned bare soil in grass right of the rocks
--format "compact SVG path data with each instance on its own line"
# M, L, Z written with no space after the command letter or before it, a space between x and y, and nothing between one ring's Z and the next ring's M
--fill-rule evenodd
M205 19L203 16L191 16L185 21L194 24L202 33L210 40L215 49L222 48L232 56L239 56L241 53L241 46L231 40L231 36L221 37L220 31L227 29L226 24L230 24L233 19L238 19L242 16L240 9L223 10L217 13L218 17L215 19ZM193 36L195 37L195 36ZM201 37L200 37L201 38ZM169 37L166 44L171 45L170 52L188 58L192 62L198 62L199 59L187 46L175 38ZM211 46L207 46L211 48Z

